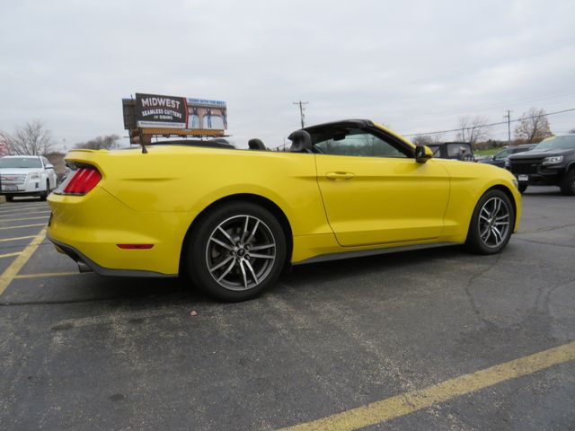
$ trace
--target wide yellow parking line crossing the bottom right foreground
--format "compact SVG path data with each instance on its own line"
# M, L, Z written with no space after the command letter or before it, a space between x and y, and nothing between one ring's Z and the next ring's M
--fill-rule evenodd
M342 431L376 425L386 420L399 418L433 404L452 400L498 383L534 374L553 365L575 359L575 342L550 348L534 355L524 356L504 364L491 366L473 374L464 374L447 382L438 383L419 391L409 391L385 400L380 400L337 413L326 418L282 428L283 431L325 430Z

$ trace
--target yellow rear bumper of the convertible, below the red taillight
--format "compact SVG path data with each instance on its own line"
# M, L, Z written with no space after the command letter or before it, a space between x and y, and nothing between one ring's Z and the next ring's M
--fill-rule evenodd
M175 277L192 217L183 212L136 211L105 189L84 196L49 196L48 237L57 247L105 276ZM125 250L118 244L153 244Z

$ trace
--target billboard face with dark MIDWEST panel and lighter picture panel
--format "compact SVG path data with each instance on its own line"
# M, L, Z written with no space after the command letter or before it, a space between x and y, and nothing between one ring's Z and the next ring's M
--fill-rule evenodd
M137 128L226 130L225 101L136 93Z

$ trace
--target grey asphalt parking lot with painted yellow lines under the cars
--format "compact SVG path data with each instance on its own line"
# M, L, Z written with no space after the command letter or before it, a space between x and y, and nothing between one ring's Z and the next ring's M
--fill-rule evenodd
M1 427L575 429L575 198L523 207L497 256L301 266L230 304L78 274L46 203L3 204Z

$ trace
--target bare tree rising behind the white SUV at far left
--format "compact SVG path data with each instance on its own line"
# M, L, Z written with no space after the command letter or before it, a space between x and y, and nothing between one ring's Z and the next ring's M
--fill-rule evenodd
M16 128L13 135L4 135L13 154L44 155L48 154L54 145L52 133L40 119L26 122Z

